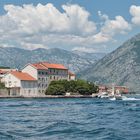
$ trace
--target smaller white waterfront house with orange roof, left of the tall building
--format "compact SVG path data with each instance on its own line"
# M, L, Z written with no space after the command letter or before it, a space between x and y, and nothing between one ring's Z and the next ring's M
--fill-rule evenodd
M29 75L19 71L7 73L2 82L9 89L9 95L12 96L38 96L37 80Z

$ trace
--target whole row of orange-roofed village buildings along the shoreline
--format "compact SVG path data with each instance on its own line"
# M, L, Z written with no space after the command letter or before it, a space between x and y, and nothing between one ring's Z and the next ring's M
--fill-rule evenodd
M76 80L76 75L62 64L49 62L29 63L20 71L9 67L0 68L0 83L5 89L0 89L0 97L46 97L45 91L52 81ZM125 86L115 86L117 93L129 93ZM98 93L90 97L99 96L100 93L111 92L111 86L98 85ZM66 97L72 97L66 93ZM81 96L75 96L81 97ZM88 96L89 97L89 96Z

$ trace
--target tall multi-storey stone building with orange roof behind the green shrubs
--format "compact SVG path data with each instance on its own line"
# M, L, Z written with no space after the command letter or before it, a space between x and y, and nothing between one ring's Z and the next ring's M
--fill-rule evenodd
M22 72L32 75L38 81L38 93L44 95L49 83L54 80L69 80L68 69L62 64L39 62L28 64Z

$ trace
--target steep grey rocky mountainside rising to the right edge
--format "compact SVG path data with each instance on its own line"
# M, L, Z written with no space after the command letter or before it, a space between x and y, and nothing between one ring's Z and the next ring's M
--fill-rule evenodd
M140 91L140 34L126 41L89 69L83 70L80 75L97 83L126 85L132 91Z

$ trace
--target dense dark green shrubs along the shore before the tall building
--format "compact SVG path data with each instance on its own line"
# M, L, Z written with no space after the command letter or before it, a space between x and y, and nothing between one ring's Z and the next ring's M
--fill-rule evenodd
M66 92L79 93L81 95L91 95L96 93L98 87L94 83L89 83L84 80L67 81L59 80L52 81L46 90L46 95L64 95Z

